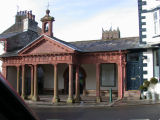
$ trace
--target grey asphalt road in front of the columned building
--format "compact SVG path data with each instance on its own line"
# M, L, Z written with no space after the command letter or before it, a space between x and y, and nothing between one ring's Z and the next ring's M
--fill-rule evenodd
M160 104L102 108L35 108L40 120L160 120Z

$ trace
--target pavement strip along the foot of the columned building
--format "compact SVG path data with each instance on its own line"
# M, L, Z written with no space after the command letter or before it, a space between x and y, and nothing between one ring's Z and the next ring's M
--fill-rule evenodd
M160 104L160 100L152 101L152 100L117 100L117 98L113 98L113 101L110 103L108 97L102 97L102 102L97 103L96 97L94 96L82 96L81 101L78 103L66 103L67 96L60 96L61 101L59 103L52 103L51 95L43 95L40 96L40 101L31 101L25 100L25 102L31 107L115 107L115 106L133 106L133 105L152 105L152 104Z

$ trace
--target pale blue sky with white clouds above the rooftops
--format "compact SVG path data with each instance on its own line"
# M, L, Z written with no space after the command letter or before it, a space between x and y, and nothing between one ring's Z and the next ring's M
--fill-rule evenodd
M17 11L32 10L40 19L50 9L54 36L65 41L97 40L104 30L117 29L121 37L138 36L137 0L0 0L0 33L15 23Z

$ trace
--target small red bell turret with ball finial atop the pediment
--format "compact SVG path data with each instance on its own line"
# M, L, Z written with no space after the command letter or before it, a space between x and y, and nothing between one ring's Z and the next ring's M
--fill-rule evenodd
M45 34L47 36L53 37L53 30L52 30L52 24L54 20L54 17L51 17L49 15L50 10L46 10L46 15L41 18L42 21L42 34Z

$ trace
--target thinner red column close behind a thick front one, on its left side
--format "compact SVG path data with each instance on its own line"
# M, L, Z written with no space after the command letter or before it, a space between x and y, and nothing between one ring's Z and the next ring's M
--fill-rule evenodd
M31 94L29 96L29 99L32 99L34 93L34 68L32 65L30 65L30 68L31 68Z

